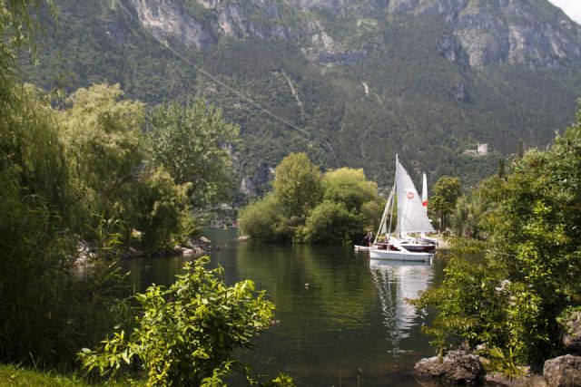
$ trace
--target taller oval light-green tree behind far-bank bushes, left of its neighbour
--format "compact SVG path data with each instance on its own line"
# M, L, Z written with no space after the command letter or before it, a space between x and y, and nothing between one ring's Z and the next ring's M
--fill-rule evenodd
M322 197L319 169L305 153L291 153L277 166L272 189L285 215L304 219Z

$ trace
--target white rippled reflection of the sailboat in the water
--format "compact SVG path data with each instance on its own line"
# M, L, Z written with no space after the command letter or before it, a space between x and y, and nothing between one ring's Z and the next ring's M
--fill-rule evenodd
M409 337L421 314L406 299L418 298L419 291L428 288L433 267L425 262L370 259L369 269L378 290L387 340L393 345L393 353L405 352L400 341Z

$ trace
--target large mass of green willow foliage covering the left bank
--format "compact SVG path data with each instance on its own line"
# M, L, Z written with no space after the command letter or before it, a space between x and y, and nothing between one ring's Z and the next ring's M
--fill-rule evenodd
M52 2L0 3L0 361L68 368L125 326L118 256L134 228L153 247L192 233L188 186L144 169L143 104L118 85L57 103L20 84L11 50Z

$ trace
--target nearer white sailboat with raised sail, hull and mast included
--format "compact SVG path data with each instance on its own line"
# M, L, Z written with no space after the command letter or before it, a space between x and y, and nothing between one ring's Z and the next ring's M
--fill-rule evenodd
M424 189L427 193L427 189ZM426 198L427 201L427 198ZM395 207L398 208L395 235L391 233L391 220ZM418 190L396 156L396 179L383 210L379 232L369 256L374 259L396 259L405 261L425 261L431 259L436 248L422 238L411 237L412 234L434 232L428 219L427 210L422 205ZM380 240L385 236L385 240Z

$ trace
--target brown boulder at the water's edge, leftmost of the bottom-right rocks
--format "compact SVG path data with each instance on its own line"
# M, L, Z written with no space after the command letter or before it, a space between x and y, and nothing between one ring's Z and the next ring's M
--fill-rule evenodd
M451 351L444 357L422 359L414 367L422 378L438 378L456 384L476 384L483 372L478 356L464 351Z

